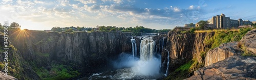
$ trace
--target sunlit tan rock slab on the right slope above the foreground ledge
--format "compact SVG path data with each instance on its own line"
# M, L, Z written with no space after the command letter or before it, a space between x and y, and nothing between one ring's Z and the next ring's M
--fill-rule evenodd
M238 42L224 43L209 50L206 53L204 66L209 66L231 56L241 56L242 50L237 45Z

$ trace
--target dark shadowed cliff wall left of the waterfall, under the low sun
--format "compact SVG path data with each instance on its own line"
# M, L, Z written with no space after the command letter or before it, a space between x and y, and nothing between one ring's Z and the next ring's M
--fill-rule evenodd
M63 64L74 71L91 74L108 70L111 60L121 52L132 50L131 38L122 33L46 33L28 30L10 33L9 39L17 47L17 55L29 63L27 66L32 71L32 67L51 70L53 65Z

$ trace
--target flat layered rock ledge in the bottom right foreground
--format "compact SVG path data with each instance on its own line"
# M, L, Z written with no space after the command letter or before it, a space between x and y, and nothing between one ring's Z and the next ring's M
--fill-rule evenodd
M256 57L232 56L200 68L186 79L256 79Z

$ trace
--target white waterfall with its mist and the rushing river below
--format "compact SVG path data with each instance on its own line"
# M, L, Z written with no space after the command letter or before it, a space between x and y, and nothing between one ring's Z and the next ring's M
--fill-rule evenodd
M122 53L117 61L113 62L114 67L116 66L119 69L93 75L89 79L155 79L164 76L159 73L161 56L155 54L155 41L152 38L141 40L140 59L136 56L135 39L132 38L131 41L133 54Z

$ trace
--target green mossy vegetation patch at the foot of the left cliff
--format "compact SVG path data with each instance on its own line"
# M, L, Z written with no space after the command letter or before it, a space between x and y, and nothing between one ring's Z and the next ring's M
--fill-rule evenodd
M74 71L71 67L62 64L54 64L50 70L47 70L45 67L34 67L34 70L43 80L68 79L80 74L78 71Z

